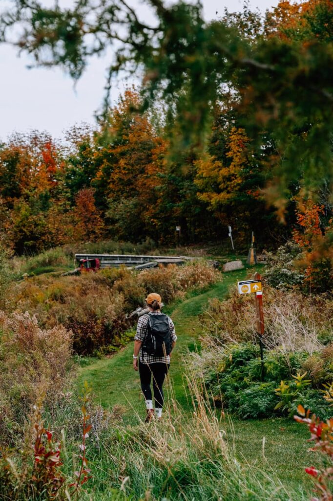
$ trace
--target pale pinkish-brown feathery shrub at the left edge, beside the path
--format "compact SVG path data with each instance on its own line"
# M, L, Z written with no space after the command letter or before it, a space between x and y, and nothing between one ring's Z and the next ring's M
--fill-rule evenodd
M0 437L6 441L42 391L49 408L61 399L72 366L72 340L62 326L40 329L28 313L0 313L0 331Z

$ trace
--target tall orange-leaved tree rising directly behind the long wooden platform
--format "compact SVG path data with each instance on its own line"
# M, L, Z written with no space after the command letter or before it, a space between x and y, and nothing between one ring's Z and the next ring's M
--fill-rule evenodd
M98 170L91 182L109 233L131 240L154 235L156 193L165 167L165 142L148 115L138 112L140 104L138 93L128 89L101 124L94 138Z

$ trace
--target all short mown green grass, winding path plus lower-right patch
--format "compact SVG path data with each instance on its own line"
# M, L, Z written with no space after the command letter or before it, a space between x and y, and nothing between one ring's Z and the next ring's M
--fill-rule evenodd
M192 295L176 306L172 319L176 326L178 342L174 351L170 381L166 383L166 391L172 387L177 401L188 408L185 384L183 382L183 354L195 349L200 326L199 315L210 298L222 299L230 285L244 279L245 270L224 275L222 283L214 285L200 295ZM142 414L143 402L140 401L138 374L132 370L132 346L128 345L112 358L94 359L89 365L79 369L79 381L89 381L94 389L96 400L104 407L115 404L124 406L124 419L127 423L137 423L136 412ZM188 411L190 409L188 408ZM305 478L304 467L314 463L308 457L306 430L290 419L264 419L242 421L232 419L225 421L225 433L231 447L241 462L264 468L267 472L275 472L286 483L304 483L308 488L309 480ZM264 448L262 447L264 438Z

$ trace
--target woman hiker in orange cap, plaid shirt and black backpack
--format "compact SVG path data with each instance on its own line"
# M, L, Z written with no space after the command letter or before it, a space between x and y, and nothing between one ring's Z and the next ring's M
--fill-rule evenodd
M154 419L154 415L158 420L161 418L164 403L162 385L170 367L171 351L177 336L172 320L160 311L161 298L159 294L149 294L145 301L149 312L142 315L137 322L133 368L135 371L139 371L147 413L144 422L147 423ZM138 360L139 364L137 364ZM151 376L155 409L152 406Z

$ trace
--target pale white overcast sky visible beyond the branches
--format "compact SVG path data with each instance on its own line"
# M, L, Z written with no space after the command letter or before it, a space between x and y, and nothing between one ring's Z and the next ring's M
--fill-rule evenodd
M9 0L0 0L1 10ZM60 0L60 5L69 6L72 0ZM146 6L138 1L143 18L149 16ZM44 0L52 5L52 0ZM229 11L240 10L242 1L203 0L205 19L215 18L216 11L222 15L224 7ZM252 8L264 11L275 6L277 0L251 0ZM73 88L72 80L60 69L27 69L31 59L17 56L17 50L0 44L0 139L5 140L12 132L28 132L37 129L60 138L62 132L75 123L94 123L94 112L100 107L105 85L107 57L94 58L85 73ZM118 79L113 84L111 99L114 103L128 81Z

